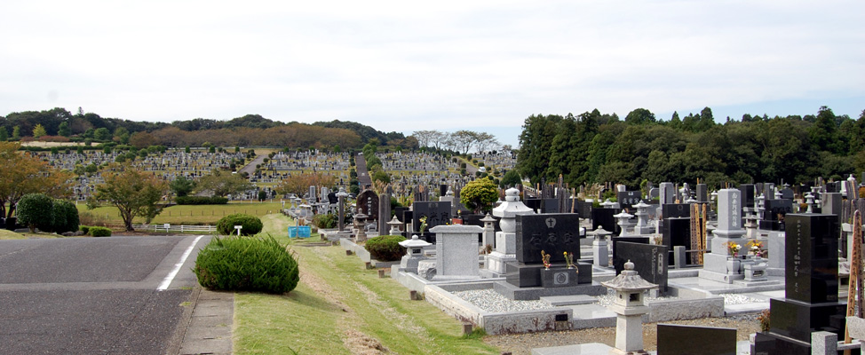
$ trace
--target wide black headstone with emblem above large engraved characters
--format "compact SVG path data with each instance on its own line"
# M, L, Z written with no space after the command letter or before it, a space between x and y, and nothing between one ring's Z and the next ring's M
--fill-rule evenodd
M551 263L564 263L564 252L580 252L580 217L575 213L517 216L517 261L541 264L541 251Z

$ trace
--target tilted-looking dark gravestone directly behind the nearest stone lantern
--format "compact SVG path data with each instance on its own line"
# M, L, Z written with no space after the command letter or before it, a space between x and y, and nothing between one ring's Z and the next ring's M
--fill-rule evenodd
M627 237L623 237L627 238ZM615 238L614 238L615 239ZM659 295L667 292L668 267L666 261L669 248L665 245L645 244L640 242L619 241L616 247L616 260L613 266L615 273L624 270L624 263L631 260L634 270L644 280L658 285Z

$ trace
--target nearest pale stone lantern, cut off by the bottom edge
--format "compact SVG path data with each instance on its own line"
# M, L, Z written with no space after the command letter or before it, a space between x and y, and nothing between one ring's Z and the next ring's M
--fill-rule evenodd
M615 349L610 354L648 354L643 350L643 314L649 308L643 303L646 291L658 285L643 280L634 271L634 263L628 260L624 270L607 282L601 282L615 291L615 300L608 309L615 313Z

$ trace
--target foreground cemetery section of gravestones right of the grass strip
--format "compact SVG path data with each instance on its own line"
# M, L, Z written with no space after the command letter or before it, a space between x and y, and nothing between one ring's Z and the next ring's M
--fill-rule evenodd
M719 349L708 353L858 349L858 338L845 343L845 329L859 334L855 317L845 318L844 301L860 302L846 285L861 282L851 272L861 269L853 253L862 241L853 236L853 225L861 225L853 214L865 207L852 176L806 188L744 184L710 191L704 184L692 189L666 182L647 194L614 188L616 201L602 202L554 187L532 189L539 198L523 200L529 188L510 188L486 215L465 209L455 198L461 192L456 184L432 193L415 187L411 207L393 215L382 203L392 188L381 195L365 190L356 206L330 204L353 214L353 225L319 232L380 276L398 280L411 297L488 335L589 327L617 332L616 348L594 343L537 354L638 351L642 335L632 333L639 333L640 322L659 323L659 353L694 353L662 351L680 343L679 334ZM376 260L363 247L385 234L405 238L401 260ZM750 341L736 341L728 328L661 325L766 311L774 315L769 330ZM638 330L628 335L629 329ZM812 352L818 349L823 352Z

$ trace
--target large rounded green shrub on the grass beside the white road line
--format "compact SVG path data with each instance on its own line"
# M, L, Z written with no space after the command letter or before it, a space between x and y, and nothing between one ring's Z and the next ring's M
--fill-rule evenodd
M284 246L267 238L214 237L195 259L195 275L204 288L290 292L298 286L298 261Z

